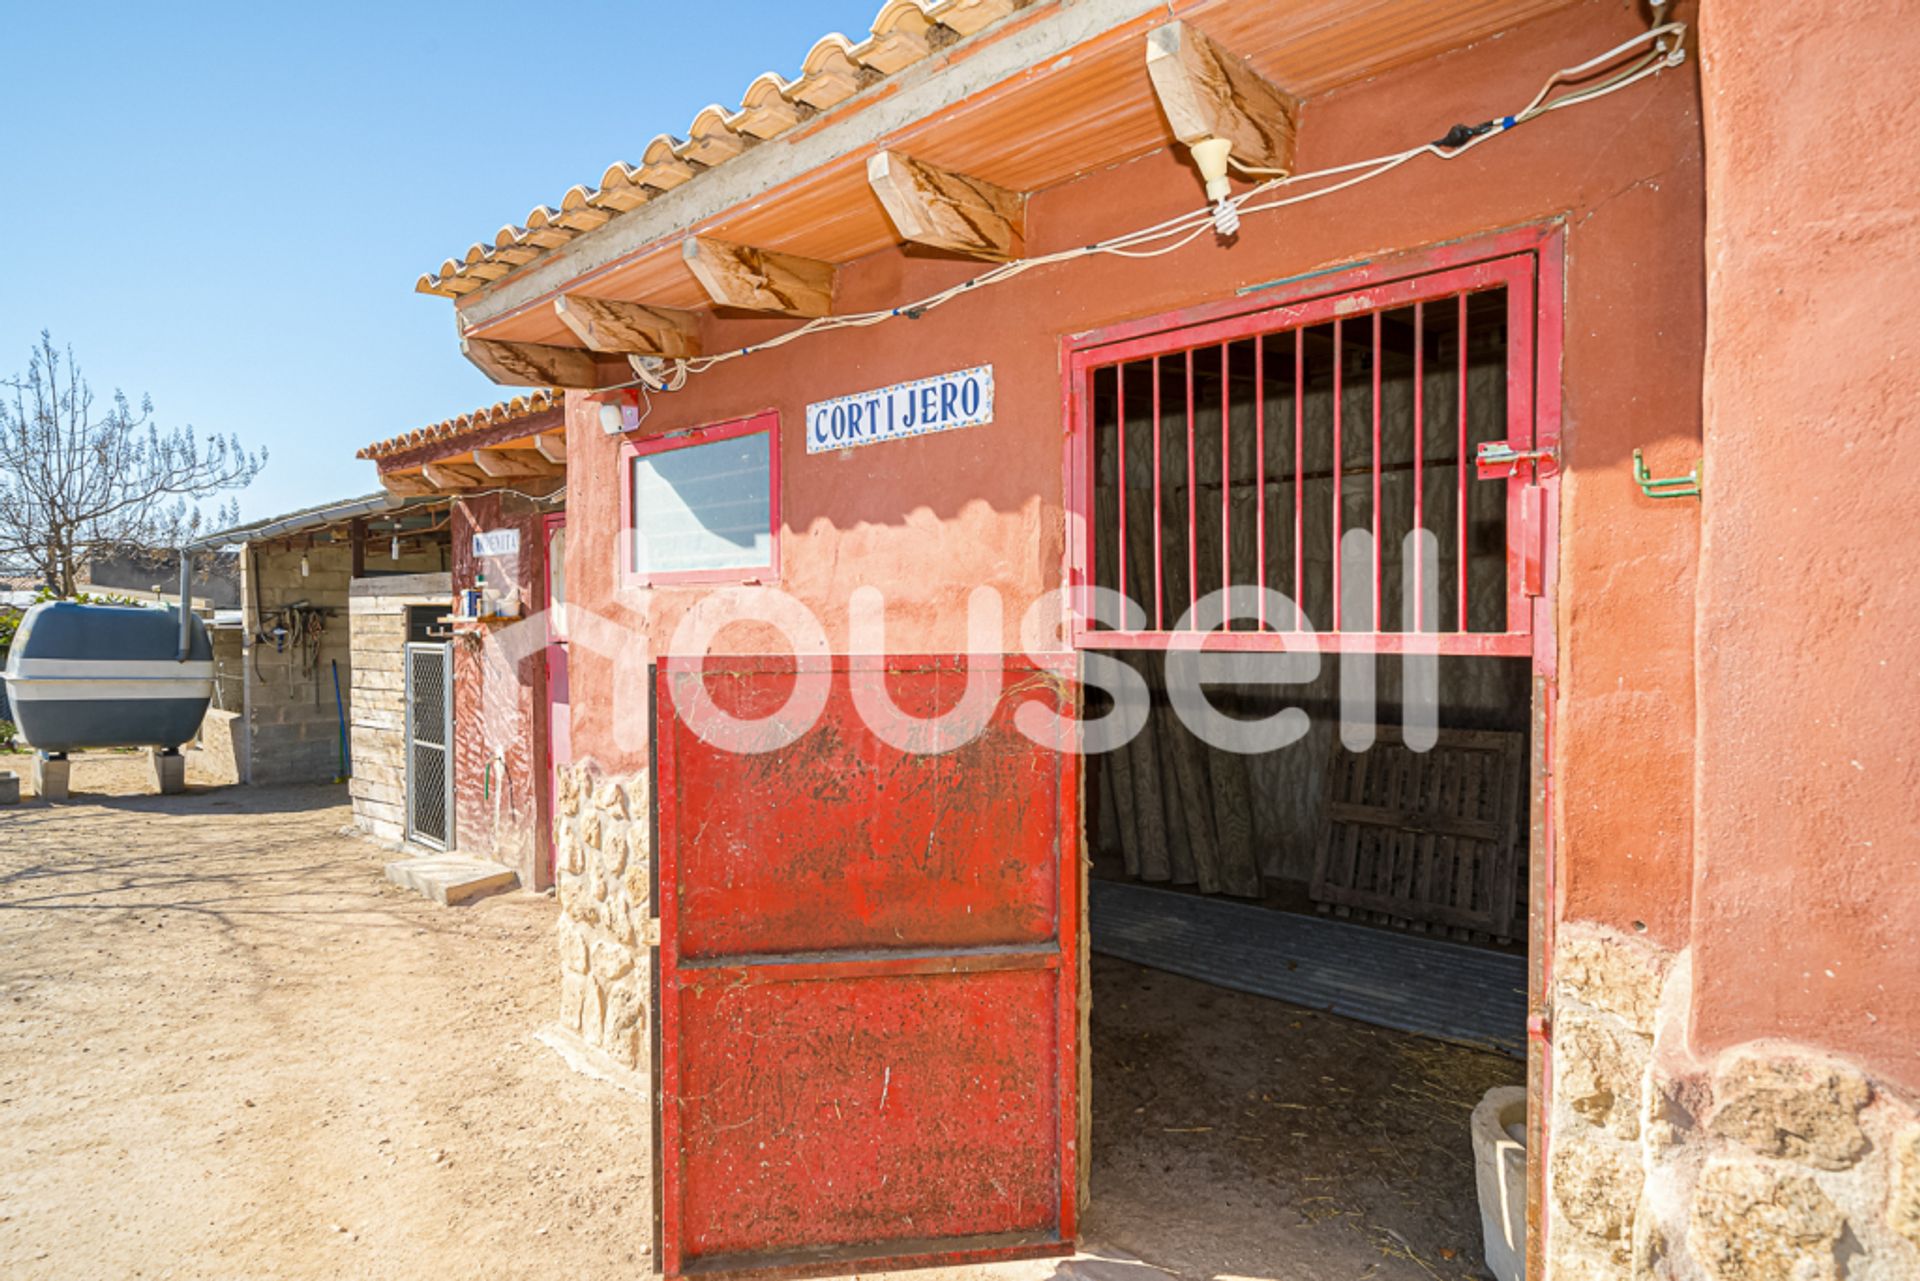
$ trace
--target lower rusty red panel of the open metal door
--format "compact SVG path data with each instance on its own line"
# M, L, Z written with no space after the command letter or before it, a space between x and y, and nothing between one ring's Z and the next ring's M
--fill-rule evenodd
M687 1252L1052 1229L1054 972L737 978L684 976Z

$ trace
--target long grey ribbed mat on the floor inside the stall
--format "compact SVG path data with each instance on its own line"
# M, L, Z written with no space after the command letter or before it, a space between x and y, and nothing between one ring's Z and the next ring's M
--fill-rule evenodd
M1089 885L1092 951L1379 1027L1526 1056L1526 958L1125 882Z

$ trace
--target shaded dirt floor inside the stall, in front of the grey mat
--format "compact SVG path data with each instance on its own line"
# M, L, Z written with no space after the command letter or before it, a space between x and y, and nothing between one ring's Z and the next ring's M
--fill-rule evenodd
M1486 1277L1467 1120L1524 1066L1092 958L1085 1231L1188 1277Z

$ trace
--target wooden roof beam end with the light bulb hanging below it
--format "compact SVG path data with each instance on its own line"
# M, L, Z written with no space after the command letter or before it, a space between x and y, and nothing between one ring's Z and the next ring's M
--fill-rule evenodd
M1146 73L1175 138L1225 138L1242 163L1292 173L1300 100L1204 31L1167 23L1146 33Z

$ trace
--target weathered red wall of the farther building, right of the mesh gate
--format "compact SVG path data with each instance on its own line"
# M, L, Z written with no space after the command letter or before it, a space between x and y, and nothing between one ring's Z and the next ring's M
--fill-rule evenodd
M474 532L518 530L520 551L474 557ZM453 590L474 586L520 597L520 622L490 622L453 640L453 812L461 853L492 858L520 883L551 883L545 824L545 657L536 630L543 603L540 509L516 494L453 505Z

